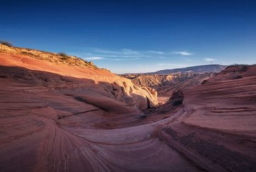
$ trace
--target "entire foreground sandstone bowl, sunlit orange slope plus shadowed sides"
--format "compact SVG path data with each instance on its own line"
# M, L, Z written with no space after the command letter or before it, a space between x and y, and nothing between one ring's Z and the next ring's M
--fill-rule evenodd
M0 53L0 171L256 171L256 66L156 106L105 69Z

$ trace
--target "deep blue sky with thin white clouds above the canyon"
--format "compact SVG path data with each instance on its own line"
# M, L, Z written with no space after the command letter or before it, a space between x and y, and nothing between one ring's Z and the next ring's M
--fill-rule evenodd
M0 39L122 74L256 63L256 1L2 0Z

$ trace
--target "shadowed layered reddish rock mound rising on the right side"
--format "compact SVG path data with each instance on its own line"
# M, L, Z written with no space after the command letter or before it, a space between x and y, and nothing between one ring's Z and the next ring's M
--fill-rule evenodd
M255 171L255 88L256 66L237 66L184 90L183 118L161 138L208 171Z

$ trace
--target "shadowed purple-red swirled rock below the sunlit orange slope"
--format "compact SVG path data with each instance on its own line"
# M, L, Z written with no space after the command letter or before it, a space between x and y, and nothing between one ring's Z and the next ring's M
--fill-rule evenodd
M22 67L0 73L1 171L198 170L158 138L158 124L141 125L115 84Z

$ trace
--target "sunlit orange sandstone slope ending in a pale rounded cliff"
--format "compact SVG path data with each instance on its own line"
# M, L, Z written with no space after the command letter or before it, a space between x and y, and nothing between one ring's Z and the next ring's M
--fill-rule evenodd
M106 69L99 69L81 58L66 54L55 54L20 47L8 47L0 44L0 65L25 67L62 76L86 78L102 86L121 102L129 106L146 109L158 104L157 93L149 87L138 87L131 80L112 74Z

